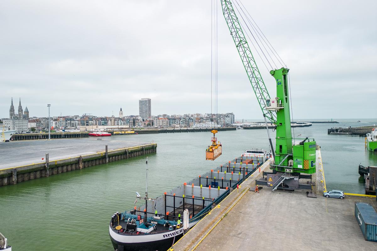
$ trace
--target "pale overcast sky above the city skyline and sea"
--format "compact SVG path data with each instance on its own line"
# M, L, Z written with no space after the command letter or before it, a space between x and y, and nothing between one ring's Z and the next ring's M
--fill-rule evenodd
M377 117L377 1L242 3L290 68L294 118ZM218 112L262 119L218 17ZM210 0L3 0L0 30L0 117L11 97L40 117L138 114L143 97L154 115L211 111Z

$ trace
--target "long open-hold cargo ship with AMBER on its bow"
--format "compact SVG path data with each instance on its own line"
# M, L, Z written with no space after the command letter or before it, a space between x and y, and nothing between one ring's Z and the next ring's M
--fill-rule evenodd
M241 156L155 199L146 193L145 204L111 216L114 250L167 250L263 163L262 158Z

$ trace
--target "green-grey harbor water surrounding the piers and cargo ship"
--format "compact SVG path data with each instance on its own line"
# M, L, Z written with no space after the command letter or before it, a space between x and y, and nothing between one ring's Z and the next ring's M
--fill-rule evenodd
M338 121L339 124L294 128L294 135L315 138L321 146L327 190L364 193L357 167L360 163L376 166L377 152L365 149L364 137L328 135L327 128L373 125L377 119L362 120L365 123ZM153 198L240 156L247 149L269 149L266 130L219 132L216 136L223 153L215 161L205 161L211 135L210 132L117 135L103 140L158 144L157 153L148 155L148 195ZM56 144L59 141L54 140ZM141 156L0 187L0 232L14 250L111 251L110 217L116 211L132 208L136 192L144 194L145 167L145 156Z

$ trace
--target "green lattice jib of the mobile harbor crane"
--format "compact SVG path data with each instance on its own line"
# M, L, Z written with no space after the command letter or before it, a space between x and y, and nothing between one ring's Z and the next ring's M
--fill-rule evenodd
M259 102L259 106L261 106L262 112L266 118L271 122L276 123L276 114L272 111L266 110L266 99L270 99L270 94L268 94L261 73L259 73L259 69L246 41L241 24L234 12L233 6L228 0L221 0L221 6L225 21L228 24L230 34L236 44L239 56L241 57L247 76L249 77L250 84L253 87L254 93Z

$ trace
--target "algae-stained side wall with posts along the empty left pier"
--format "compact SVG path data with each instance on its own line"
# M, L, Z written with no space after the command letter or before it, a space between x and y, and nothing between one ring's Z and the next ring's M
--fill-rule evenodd
M0 186L150 154L156 152L156 149L157 144L147 144L2 169L0 170Z

